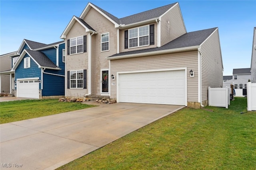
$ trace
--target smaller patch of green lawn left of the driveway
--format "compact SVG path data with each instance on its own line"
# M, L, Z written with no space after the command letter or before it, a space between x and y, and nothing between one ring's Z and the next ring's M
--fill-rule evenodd
M0 102L0 124L89 107L94 106L79 102L58 102L57 99Z

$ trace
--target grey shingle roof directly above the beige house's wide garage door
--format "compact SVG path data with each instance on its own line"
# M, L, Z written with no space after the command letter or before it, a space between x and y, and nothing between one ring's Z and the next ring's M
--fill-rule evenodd
M123 53L114 54L111 57L116 56L122 56L122 55L131 55L131 54L139 54L139 53L148 53L153 51L162 51L162 50L168 50L168 49L178 49L183 47L193 47L198 46L204 42L206 38L208 38L213 31L215 31L217 28L210 28L210 29L204 29L200 31L194 31L185 33L184 35L181 35L180 37L170 41L169 43L161 46L161 47L155 47L150 49L142 49L142 50L136 50L136 51L127 51Z

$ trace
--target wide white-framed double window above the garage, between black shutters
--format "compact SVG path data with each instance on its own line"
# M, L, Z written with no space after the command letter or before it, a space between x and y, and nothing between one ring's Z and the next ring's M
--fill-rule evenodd
M149 45L149 25L128 30L129 48Z

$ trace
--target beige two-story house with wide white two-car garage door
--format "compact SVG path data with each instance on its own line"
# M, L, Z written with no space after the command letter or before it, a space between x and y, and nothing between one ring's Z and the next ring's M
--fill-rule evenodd
M218 28L187 32L178 2L124 18L89 2L61 38L65 96L198 108L222 86Z

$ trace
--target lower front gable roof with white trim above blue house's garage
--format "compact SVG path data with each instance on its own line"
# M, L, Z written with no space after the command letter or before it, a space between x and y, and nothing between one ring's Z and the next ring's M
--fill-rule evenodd
M24 51L21 53L20 57L12 67L12 71L14 71L20 62L22 61L23 57L28 54L33 61L38 65L38 68L49 68L54 70L60 70L58 66L56 66L44 53L39 51L32 51L29 49L24 49Z

